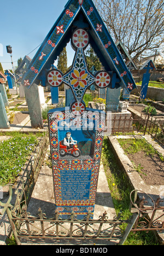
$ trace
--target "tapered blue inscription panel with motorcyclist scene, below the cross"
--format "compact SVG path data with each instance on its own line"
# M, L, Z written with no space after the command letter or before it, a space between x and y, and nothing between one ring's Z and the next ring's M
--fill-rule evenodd
M88 109L76 117L58 108L48 118L57 211L83 219L95 207L105 114Z

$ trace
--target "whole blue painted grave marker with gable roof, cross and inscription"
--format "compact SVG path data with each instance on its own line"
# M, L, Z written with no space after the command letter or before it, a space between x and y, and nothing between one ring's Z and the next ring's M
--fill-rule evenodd
M75 56L71 69L63 74L51 65L70 39ZM87 68L84 50L89 43L102 62L102 71L91 73ZM89 86L136 88L91 0L66 4L22 78L26 89L40 81L52 88L62 83L69 87L67 107L48 113L55 203L62 218L74 211L82 219L88 211L93 214L95 207L105 124L104 112L86 108L85 92Z

